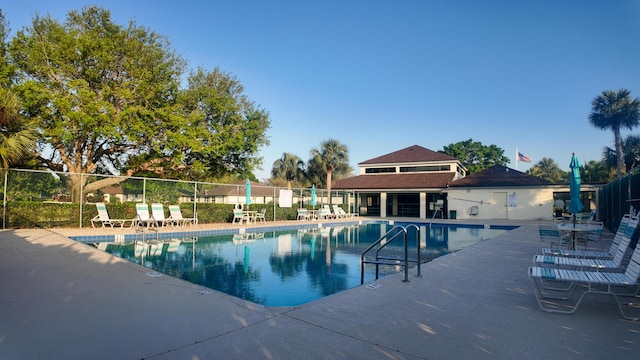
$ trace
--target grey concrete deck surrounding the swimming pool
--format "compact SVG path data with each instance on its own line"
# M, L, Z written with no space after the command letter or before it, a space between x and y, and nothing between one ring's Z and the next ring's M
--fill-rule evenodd
M640 322L622 319L608 296L587 296L573 315L538 308L527 276L537 222L482 223L520 228L423 264L423 276L411 271L408 283L397 274L286 308L150 276L148 268L67 237L117 233L112 230L2 230L0 358L631 359L640 353ZM229 224L198 228L217 226Z

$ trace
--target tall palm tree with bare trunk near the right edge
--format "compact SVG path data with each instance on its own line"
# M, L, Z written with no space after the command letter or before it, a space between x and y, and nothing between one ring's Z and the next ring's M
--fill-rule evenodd
M605 90L591 102L589 122L599 129L613 130L616 148L616 175L624 170L621 128L633 129L640 122L640 100L632 99L627 89Z

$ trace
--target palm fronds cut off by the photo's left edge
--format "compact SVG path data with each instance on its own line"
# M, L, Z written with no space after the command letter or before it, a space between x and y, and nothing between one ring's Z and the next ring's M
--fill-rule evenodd
M20 99L6 88L0 88L0 165L7 169L29 155L37 132L33 122L20 115Z

